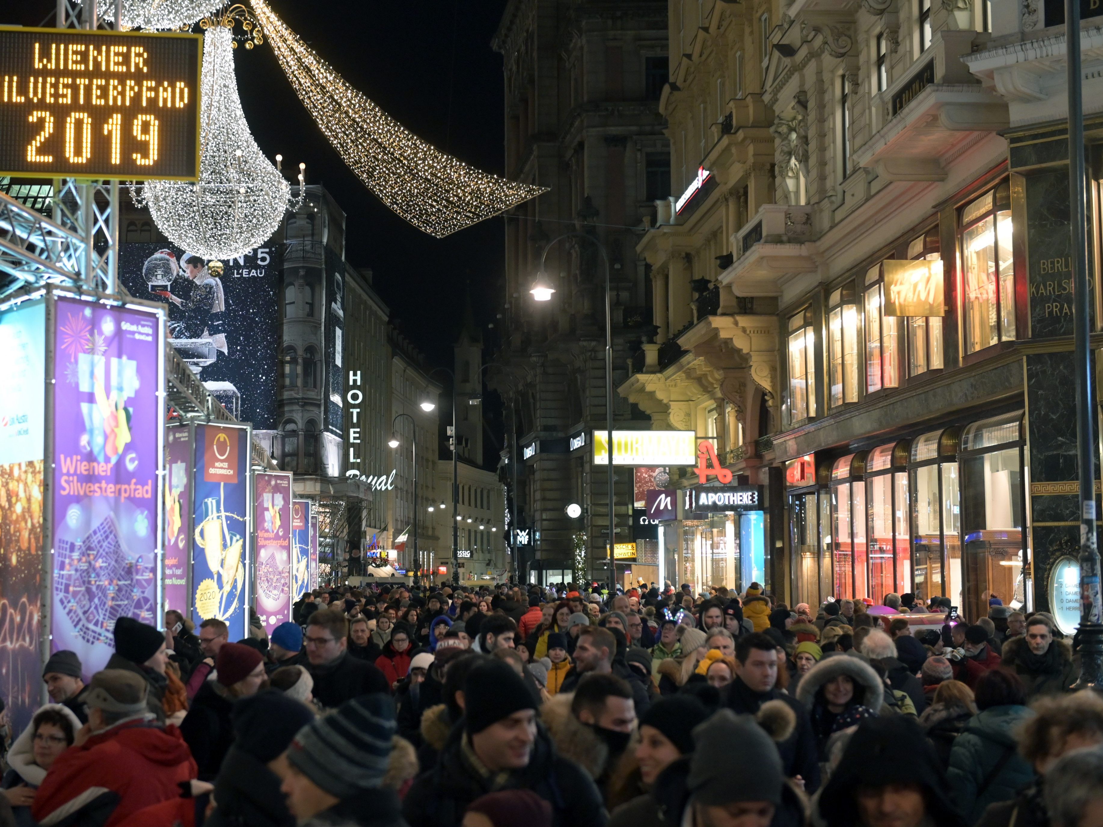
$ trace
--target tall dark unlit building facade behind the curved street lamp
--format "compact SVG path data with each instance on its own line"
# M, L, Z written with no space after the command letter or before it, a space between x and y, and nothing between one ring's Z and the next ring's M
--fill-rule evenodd
M604 259L612 292L614 380L646 324L645 262L635 251L644 217L670 186L658 114L667 75L666 4L657 0L511 0L493 46L505 71L506 174L549 192L506 216L503 346L489 382L506 404L516 473L518 576L574 568L585 535L589 568L608 577L610 515L603 469L572 434L606 420ZM555 239L577 232L587 238ZM534 304L529 287L547 251L556 290ZM646 427L614 399L618 427ZM518 454L516 447L524 447ZM524 454L524 455L521 455ZM522 468L523 466L523 468ZM630 519L631 475L617 479L617 519ZM570 503L589 511L569 517ZM515 536L516 540L517 537Z

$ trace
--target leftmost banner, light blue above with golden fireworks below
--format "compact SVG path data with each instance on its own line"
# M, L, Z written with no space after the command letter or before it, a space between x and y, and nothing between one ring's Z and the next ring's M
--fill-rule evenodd
M0 314L0 698L14 732L42 692L45 302Z

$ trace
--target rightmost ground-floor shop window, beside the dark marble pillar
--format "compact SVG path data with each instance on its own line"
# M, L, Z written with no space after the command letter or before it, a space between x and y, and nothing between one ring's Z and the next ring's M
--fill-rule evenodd
M985 616L988 600L1024 602L1022 412L974 422L962 434L963 611Z

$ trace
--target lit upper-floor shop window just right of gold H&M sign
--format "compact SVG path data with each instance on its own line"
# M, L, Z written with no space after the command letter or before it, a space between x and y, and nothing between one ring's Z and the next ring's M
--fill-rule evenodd
M965 353L1016 337L1010 184L961 210L962 339Z

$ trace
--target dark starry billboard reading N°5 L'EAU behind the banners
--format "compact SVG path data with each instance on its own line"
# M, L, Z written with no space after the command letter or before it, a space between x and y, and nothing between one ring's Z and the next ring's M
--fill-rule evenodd
M278 245L224 261L170 244L120 245L119 280L169 307L169 342L226 410L276 428L280 281Z

